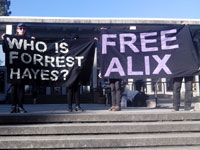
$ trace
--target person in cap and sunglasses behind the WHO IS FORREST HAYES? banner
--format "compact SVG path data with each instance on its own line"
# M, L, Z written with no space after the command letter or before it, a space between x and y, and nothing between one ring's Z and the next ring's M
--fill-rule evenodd
M24 23L19 23L16 28L16 35L21 37L27 37L27 27ZM5 33L1 36L4 40ZM35 37L31 37L35 39ZM6 49L4 49L4 52ZM18 81L15 84L12 84L12 92L11 92L11 111L10 113L26 113L27 111L23 107L24 100L24 87L25 85L22 81Z

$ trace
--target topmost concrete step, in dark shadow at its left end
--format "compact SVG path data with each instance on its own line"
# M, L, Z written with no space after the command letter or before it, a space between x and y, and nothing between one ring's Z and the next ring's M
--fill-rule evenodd
M67 122L150 122L200 120L200 112L89 112L61 114L0 114L0 124L67 123Z

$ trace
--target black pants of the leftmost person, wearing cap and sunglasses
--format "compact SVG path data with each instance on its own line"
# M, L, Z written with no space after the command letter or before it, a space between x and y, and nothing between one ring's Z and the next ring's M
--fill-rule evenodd
M12 106L23 107L24 84L13 84L11 92Z

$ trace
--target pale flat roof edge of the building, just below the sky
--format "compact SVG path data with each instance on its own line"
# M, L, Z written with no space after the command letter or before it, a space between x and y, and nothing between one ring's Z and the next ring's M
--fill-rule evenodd
M200 24L200 19L170 18L76 18L0 16L1 23L80 23L80 24Z

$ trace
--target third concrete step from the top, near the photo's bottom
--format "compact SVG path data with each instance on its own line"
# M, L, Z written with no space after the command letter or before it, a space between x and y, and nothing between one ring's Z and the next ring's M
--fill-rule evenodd
M200 146L200 133L0 136L0 149Z

